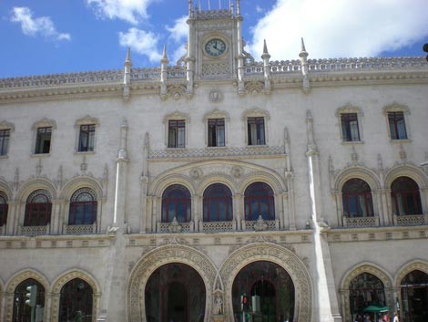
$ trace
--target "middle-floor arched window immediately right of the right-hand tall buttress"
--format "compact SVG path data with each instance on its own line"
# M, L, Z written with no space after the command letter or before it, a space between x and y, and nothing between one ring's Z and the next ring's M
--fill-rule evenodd
M343 214L346 217L372 217L372 190L367 182L351 179L341 188Z

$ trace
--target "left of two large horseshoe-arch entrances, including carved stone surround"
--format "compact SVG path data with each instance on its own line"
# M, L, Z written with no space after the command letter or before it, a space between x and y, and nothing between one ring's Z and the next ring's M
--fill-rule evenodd
M154 249L129 278L128 321L209 321L216 276L215 265L192 247L169 244Z

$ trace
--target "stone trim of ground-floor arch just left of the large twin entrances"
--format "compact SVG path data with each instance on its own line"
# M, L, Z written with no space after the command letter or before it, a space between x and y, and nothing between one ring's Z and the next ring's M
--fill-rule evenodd
M60 293L63 286L66 285L69 281L80 278L87 282L89 286L92 287L93 298L92 298L92 321L97 321L97 312L99 307L99 298L101 296L100 287L97 284L94 277L82 270L71 270L65 274L56 278L56 281L52 286L52 304L51 304L51 320L57 321L59 318L59 301Z

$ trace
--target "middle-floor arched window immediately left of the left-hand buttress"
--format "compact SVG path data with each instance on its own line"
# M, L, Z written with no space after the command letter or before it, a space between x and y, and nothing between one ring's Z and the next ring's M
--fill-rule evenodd
M97 195L89 188L77 190L71 196L68 224L92 224L97 222Z

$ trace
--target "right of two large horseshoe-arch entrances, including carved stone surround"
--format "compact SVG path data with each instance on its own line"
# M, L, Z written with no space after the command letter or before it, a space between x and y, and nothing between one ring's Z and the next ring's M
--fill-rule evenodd
M288 315L294 321L311 322L311 275L289 249L270 243L243 246L223 263L220 276L229 296L225 307L229 317L239 320L243 311L241 296L246 293L250 306L253 306L251 296L260 295L260 312L263 311L260 321L278 321Z

